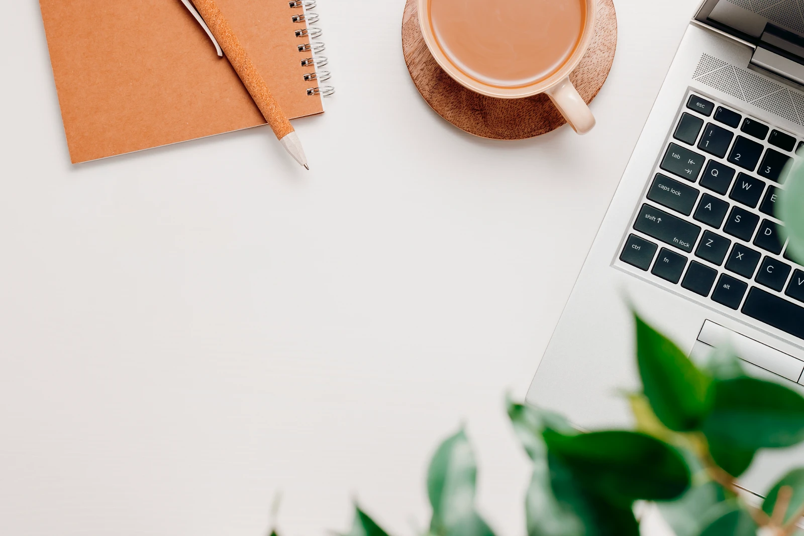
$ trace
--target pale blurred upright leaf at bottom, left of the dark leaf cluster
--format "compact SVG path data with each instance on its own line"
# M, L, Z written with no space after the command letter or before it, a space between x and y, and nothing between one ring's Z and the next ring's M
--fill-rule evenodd
M427 493L433 506L432 534L494 536L474 509L477 476L474 452L461 430L445 440L430 461Z

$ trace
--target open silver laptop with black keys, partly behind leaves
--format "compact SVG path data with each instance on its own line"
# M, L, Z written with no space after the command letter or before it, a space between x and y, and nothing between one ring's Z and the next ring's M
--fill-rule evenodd
M804 0L707 0L683 37L527 401L584 428L630 424L626 300L693 358L728 341L749 374L804 394L804 267L777 231L804 145ZM804 447L764 451L764 493Z

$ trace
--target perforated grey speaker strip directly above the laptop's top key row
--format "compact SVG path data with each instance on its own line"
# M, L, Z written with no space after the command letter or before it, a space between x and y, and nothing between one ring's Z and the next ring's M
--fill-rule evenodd
M798 0L804 2L804 0ZM745 0L749 2L749 0ZM753 0L757 2L757 0ZM726 63L704 54L692 78L710 88L745 100L766 112L775 113L788 121L804 126L804 94L769 80L755 72Z

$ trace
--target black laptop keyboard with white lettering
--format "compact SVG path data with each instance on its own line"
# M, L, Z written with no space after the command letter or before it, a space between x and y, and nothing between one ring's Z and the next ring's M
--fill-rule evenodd
M804 268L787 254L774 216L781 171L802 145L690 93L620 260L676 292L804 339Z

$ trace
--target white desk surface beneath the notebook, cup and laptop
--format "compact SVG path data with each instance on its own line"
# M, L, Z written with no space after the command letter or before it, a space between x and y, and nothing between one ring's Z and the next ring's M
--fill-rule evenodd
M429 519L466 423L523 534L523 396L696 0L617 0L597 128L486 141L404 66L404 0L319 0L336 96L295 125L69 163L38 2L0 19L0 534L283 536ZM354 138L364 136L363 145Z

